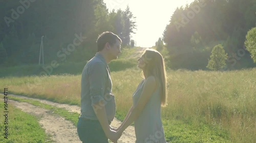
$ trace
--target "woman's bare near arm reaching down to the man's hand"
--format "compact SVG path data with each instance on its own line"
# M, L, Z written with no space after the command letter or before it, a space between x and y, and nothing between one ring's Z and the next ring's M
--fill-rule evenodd
M130 115L127 114L127 119L119 127L118 133L122 133L128 126L130 126L140 115L147 101L151 98L156 89L156 80L154 76L150 76L145 80L143 90L139 101L135 106L131 107Z

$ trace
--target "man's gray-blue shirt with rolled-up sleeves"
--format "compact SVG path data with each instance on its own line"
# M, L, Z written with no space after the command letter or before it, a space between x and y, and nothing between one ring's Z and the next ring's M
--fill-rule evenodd
M95 105L98 104L99 105ZM81 118L98 120L93 106L106 110L108 121L113 121L116 112L115 96L108 64L100 53L96 53L86 66L81 77Z

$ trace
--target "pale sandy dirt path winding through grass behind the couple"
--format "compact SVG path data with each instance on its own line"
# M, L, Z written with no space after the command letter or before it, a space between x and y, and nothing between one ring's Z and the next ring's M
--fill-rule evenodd
M80 107L75 105L60 104L60 103L55 103L47 100L28 98L24 96L16 96L16 95L11 95L11 96L24 98L24 99L32 99L32 100L40 101L41 103L49 104L55 107L67 109L72 112L80 113ZM25 112L32 113L36 116L41 117L39 123L42 125L42 128L46 129L47 133L52 135L52 139L55 140L56 142L63 142L63 143L81 142L77 135L76 127L70 121L66 121L64 118L52 116L50 113L50 110L39 108L25 102L17 102L17 101L11 100L10 103L13 103L14 106L22 109ZM114 128L117 128L120 125L121 125L121 122L118 121L116 118L111 123L111 126ZM135 140L136 138L135 138L134 127L130 126L126 128L126 130L123 132L118 142L134 143Z

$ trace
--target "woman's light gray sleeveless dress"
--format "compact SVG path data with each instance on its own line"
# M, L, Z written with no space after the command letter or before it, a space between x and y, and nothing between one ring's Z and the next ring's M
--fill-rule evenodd
M133 104L136 105L142 90L145 79L143 79L133 94ZM146 103L140 116L134 122L136 143L166 143L164 130L161 121L161 97L159 88L153 93Z

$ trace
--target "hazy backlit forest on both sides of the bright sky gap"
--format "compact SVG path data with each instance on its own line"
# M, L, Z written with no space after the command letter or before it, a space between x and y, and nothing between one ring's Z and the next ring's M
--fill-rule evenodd
M248 50L245 41L255 27L255 10L256 0L195 0L170 14L156 47L166 46L166 63L172 69L207 69L211 51L219 44L227 53L227 69L253 67L249 51L254 50ZM130 8L109 11L103 0L0 0L0 17L4 66L37 64L42 36L48 64L90 60L104 31L121 37L122 47L135 45L131 34L136 17Z

